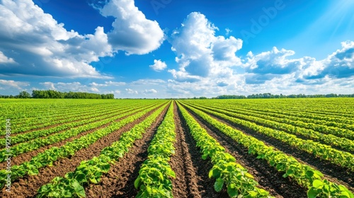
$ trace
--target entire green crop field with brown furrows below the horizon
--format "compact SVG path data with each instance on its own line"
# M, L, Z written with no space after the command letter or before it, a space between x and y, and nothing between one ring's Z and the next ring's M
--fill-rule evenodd
M354 98L0 99L0 197L354 198Z

